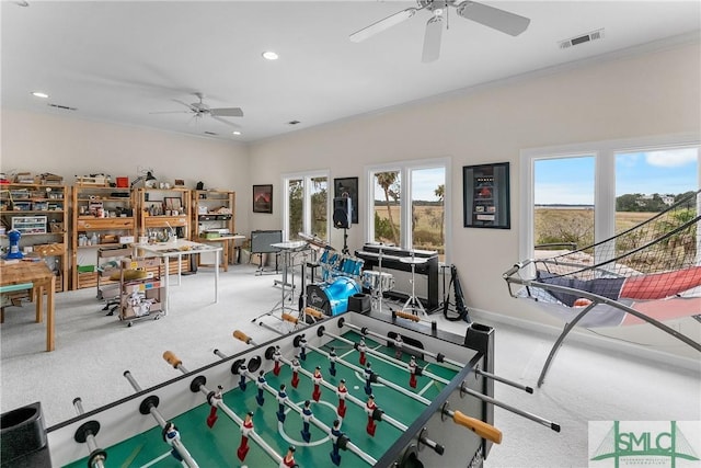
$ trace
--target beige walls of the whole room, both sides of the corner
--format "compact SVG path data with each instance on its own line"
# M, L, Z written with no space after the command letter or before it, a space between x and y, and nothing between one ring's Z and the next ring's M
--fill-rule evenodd
M452 259L468 305L516 318L562 326L512 299L502 273L518 258L519 151L526 148L700 133L699 44L541 72L401 109L300 130L250 148L173 134L3 111L2 168L64 175L106 171L136 174L153 167L159 178L197 180L238 193L238 229L276 229L280 222L280 174L329 170L332 178L360 178L364 168L389 161L451 158ZM196 162L195 162L196 161ZM463 165L512 163L512 229L462 227ZM273 169L274 168L274 169ZM576 176L576 174L572 174ZM275 185L275 213L252 214L252 184ZM360 219L363 222L363 218ZM352 250L365 240L364 225L348 231ZM335 231L335 230L333 230ZM332 232L341 246L342 235ZM691 319L674 322L701 339ZM690 349L650 327L607 330L667 352Z

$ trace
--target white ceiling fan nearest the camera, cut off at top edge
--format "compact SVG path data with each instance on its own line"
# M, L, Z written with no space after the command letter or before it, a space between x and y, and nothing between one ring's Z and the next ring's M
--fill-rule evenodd
M417 11L428 10L433 13L433 16L430 16L426 23L422 61L429 62L437 60L440 55L440 35L443 33L444 21L447 23L448 7L455 8L458 15L467 20L472 20L512 36L518 36L526 31L530 23L530 19L528 18L474 1L416 0L416 3L417 7L407 8L406 10L391 14L369 26L356 31L350 34L350 41L359 43L409 20L416 14Z

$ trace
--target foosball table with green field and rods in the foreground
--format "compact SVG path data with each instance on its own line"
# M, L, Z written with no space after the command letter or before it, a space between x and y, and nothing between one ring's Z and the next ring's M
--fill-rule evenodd
M15 467L480 467L502 440L494 383L519 386L493 375L494 330L478 323L459 336L346 312L260 343L233 336L250 347L215 350L194 370L175 354L184 350L166 351L171 380L141 389L126 370L134 395L45 432L41 411L3 414L3 438L19 443L16 430L45 443L3 457ZM42 453L47 461L22 465Z

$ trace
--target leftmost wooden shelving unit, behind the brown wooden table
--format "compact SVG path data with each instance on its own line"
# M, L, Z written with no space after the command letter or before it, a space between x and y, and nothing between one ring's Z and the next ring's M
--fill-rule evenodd
M53 183L11 183L0 185L0 218L5 228L0 235L3 248L7 232L22 233L20 248L30 247L56 274L56 290L69 285L68 203L70 190Z

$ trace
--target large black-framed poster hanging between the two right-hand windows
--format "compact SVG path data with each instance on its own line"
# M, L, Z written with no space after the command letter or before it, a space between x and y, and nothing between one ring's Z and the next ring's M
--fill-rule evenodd
M466 228L512 228L508 172L508 162L462 167Z

